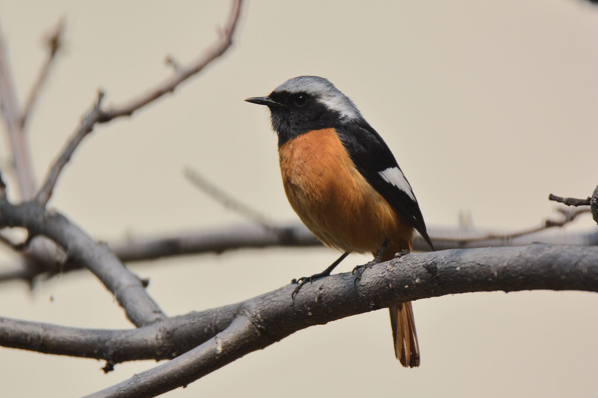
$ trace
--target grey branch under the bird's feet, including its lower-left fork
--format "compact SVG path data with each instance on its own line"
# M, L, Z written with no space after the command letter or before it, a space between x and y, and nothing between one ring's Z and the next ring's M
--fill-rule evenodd
M231 322L212 329L212 337L199 347L91 397L154 397L297 330L396 302L493 290L598 292L598 248L533 244L405 255L369 268L357 288L350 273L306 286L295 302L290 296L294 285L243 302L234 307L237 314ZM194 324L193 329L206 327Z

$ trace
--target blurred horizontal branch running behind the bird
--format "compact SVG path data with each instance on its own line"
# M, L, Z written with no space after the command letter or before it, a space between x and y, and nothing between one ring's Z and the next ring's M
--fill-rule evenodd
M598 245L598 231L547 233L529 235L496 234L483 229L428 228L435 247L438 250L465 249L474 247L521 246L533 242L550 244L575 244L584 246ZM496 238L495 238L496 237ZM197 229L196 231L178 232L167 235L147 237L126 237L108 243L108 247L122 262L148 261L181 255L202 255L222 253L227 250L261 249L266 247L317 247L322 244L307 227L299 222L277 224L273 229L266 229L255 224L237 224L219 228ZM413 240L416 251L429 250L422 237L416 235ZM65 273L81 268L72 261L56 264L42 259L25 257L15 264L0 266L0 282L14 279L32 280L38 275L48 276Z

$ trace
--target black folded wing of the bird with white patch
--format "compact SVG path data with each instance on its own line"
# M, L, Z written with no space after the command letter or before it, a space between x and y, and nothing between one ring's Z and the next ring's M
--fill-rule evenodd
M336 131L359 173L434 250L413 189L380 134L365 120L343 123Z

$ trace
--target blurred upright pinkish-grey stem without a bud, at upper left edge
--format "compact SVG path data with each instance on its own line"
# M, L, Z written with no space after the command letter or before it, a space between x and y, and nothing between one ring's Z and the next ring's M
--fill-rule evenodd
M19 191L22 200L29 200L35 194L33 164L27 137L23 134L21 111L17 91L14 87L13 72L8 60L8 51L0 28L0 94L2 95L2 111L8 128L14 168L19 180Z

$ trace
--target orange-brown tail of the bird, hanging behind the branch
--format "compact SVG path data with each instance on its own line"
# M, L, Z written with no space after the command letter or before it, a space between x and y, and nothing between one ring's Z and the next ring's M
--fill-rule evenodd
M411 243L407 247L389 245L382 261L389 261L395 257L395 253L401 250L411 250ZM413 307L411 301L402 302L389 307L390 326L392 326L392 338L395 342L395 356L405 368L419 366L419 344L417 343L417 332L413 318Z

